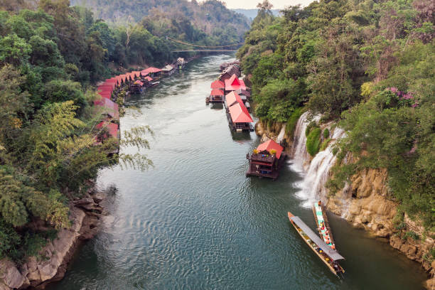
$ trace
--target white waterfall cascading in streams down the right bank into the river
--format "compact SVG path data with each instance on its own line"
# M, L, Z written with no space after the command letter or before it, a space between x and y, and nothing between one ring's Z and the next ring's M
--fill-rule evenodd
M337 139L343 137L345 132L343 129L335 128L331 136L332 141L328 147L318 152L314 156L311 163L308 164L309 155L306 152L306 136L305 130L307 126L307 113L304 113L299 118L298 124L295 129L294 137L294 150L293 150L293 164L292 168L296 171L303 173L304 179L300 183L295 183L295 186L301 190L296 193L296 196L304 200L302 206L311 208L316 200L326 196L325 184L328 181L329 170L335 163L336 157L332 153L333 144ZM316 117L318 121L319 117ZM307 168L308 167L308 168Z

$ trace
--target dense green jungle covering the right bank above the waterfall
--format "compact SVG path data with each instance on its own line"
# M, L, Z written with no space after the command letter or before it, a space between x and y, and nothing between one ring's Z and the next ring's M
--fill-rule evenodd
M260 6L237 53L257 116L289 130L304 109L339 122L348 134L331 192L363 168L387 168L402 213L434 230L434 1L321 0L281 17ZM307 134L312 155L326 148L318 129Z

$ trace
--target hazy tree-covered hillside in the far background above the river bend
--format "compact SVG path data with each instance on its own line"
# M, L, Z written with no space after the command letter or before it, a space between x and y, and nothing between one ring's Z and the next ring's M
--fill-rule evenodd
M249 19L218 0L73 0L110 23L139 23L154 36L170 36L187 43L225 45L242 43Z

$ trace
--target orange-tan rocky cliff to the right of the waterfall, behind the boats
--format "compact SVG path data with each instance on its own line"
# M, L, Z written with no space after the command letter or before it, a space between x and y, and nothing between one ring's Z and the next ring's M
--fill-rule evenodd
M352 183L345 189L328 198L327 207L371 232L375 237L387 239L394 249L404 253L409 259L422 264L431 274L435 274L429 260L424 257L434 247L434 240L424 235L424 227L419 226L404 215L404 227L417 233L419 240L407 237L404 231L397 230L397 203L388 198L387 170L366 169L352 177ZM430 235L429 235L430 236Z

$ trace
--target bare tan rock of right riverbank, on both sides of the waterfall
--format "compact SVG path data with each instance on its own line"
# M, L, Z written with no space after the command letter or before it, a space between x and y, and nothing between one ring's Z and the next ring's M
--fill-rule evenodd
M276 139L282 130L285 130L286 124L259 121L255 126L255 131L258 136L265 139ZM331 129L331 124L323 125ZM322 128L324 129L324 128ZM305 134L305 129L295 129L295 133ZM302 140L304 138L301 138ZM301 165L306 171L313 158L306 152L295 155L295 140L286 132L284 134L284 144L286 144L286 151L293 158L301 159ZM300 144L299 144L300 145ZM350 161L351 162L351 161ZM330 164L329 168L333 163ZM319 173L321 174L321 173ZM326 177L330 176L330 172L326 172ZM407 232L397 230L397 225L394 218L397 216L398 204L390 200L388 197L387 187L387 171L385 169L366 169L351 178L352 183L340 190L335 195L331 195L323 187L319 192L321 196L318 197L323 200L324 204L331 212L339 215L354 227L364 229L370 232L370 235L379 238L384 242L397 249L404 254L408 259L421 264L431 278L426 281L426 288L433 289L435 287L435 261L430 261L427 257L430 255L430 250L434 247L434 239L424 231L419 222L415 222L404 214L402 227L407 229L407 232L414 232L420 238L415 240ZM433 236L433 235L432 235Z

